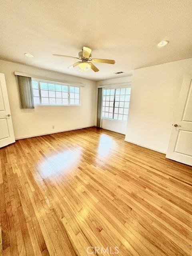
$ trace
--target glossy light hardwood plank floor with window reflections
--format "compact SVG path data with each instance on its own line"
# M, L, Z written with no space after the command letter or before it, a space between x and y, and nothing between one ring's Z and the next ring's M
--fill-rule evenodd
M190 166L95 127L18 140L0 161L0 256L192 255Z

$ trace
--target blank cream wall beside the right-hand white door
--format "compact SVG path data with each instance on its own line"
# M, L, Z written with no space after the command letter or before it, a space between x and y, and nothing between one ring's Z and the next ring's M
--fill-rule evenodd
M192 58L134 70L126 141L166 153L187 73Z

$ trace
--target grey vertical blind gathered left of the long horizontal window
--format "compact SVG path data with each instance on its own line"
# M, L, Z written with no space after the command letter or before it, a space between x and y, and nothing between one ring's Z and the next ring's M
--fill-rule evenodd
M20 107L34 108L31 77L17 76L17 81L20 95Z

